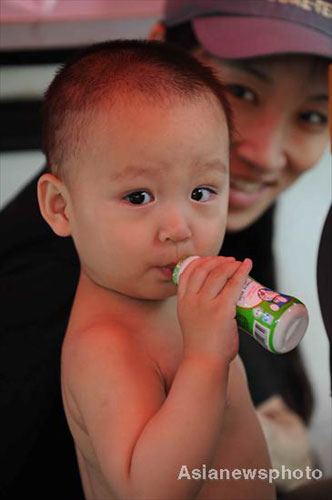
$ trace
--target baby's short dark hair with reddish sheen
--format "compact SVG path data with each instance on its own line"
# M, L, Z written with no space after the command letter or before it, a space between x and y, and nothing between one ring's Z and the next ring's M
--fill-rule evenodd
M43 152L48 171L64 179L65 165L75 158L93 113L106 101L109 110L112 102L131 95L156 105L214 96L231 139L233 119L225 89L209 66L165 42L107 41L74 54L45 93Z

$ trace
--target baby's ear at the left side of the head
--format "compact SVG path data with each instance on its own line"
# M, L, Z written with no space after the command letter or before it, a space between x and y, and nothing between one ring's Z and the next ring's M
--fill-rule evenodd
M58 236L70 236L67 216L69 194L62 181L52 174L43 174L37 185L39 209Z

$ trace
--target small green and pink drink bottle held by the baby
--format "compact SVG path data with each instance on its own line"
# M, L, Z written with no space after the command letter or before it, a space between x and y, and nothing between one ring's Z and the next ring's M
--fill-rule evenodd
M177 263L173 283L178 284L184 269L195 259L199 257L186 257ZM251 335L264 349L283 354L299 344L309 316L300 300L274 292L249 276L236 303L236 321L239 329Z

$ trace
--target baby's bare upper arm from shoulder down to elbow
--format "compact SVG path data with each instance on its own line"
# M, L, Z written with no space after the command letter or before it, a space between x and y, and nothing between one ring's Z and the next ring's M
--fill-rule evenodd
M67 419L82 456L94 468L96 457L103 457L109 484L125 483L138 436L166 397L143 344L108 321L69 331L61 383Z

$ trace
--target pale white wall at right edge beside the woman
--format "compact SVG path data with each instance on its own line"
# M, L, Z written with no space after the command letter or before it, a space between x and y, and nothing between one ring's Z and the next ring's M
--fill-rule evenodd
M301 350L315 396L311 441L324 473L329 475L332 474L329 343L320 313L316 266L330 203L331 155L326 152L319 165L280 198L275 233L279 291L295 295L309 310L310 322Z

